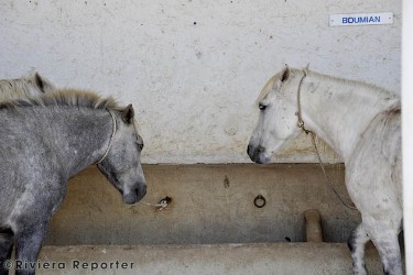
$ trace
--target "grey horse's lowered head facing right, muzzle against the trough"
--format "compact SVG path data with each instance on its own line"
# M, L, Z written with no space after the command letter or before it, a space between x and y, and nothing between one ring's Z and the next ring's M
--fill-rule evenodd
M146 183L140 158L143 140L135 130L131 106L121 112L117 124L112 145L98 168L122 194L124 202L134 204L145 196Z

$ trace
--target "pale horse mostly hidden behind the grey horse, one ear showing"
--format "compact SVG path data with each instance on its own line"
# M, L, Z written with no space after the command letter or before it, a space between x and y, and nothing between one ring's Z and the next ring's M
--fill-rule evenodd
M0 79L0 100L35 97L55 90L56 87L39 73L17 79Z

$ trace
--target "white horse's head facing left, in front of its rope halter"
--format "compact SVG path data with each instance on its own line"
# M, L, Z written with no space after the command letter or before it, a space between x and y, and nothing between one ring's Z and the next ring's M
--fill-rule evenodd
M275 75L267 96L259 99L260 117L248 144L247 153L256 163L269 163L285 141L298 135L296 91L290 81L292 72L286 67ZM265 88L264 88L265 89ZM263 90L264 92L264 90Z

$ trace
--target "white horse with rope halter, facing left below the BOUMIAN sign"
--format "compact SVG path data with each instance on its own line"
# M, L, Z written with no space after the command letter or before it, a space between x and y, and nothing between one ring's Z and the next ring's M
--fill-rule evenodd
M367 273L365 244L371 240L384 273L402 274L400 98L372 85L285 67L267 82L258 101L260 117L248 145L251 160L270 162L303 130L317 134L343 157L347 190L361 212L362 221L348 239L354 273Z

